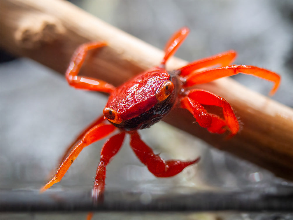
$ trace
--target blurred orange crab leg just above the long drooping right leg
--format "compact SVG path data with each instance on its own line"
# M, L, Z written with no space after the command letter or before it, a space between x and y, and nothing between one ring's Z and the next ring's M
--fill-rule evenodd
M235 57L236 52L234 50L229 50L200 60L195 60L194 62L188 63L188 65L181 67L178 70L180 70L180 76L186 76L205 67L215 65L220 65L221 67L227 66L234 60Z

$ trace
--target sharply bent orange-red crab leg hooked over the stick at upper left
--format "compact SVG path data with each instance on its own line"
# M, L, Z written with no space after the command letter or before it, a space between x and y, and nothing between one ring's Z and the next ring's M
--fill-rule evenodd
M79 70L84 63L88 50L96 49L107 45L104 42L91 42L80 45L71 57L65 77L69 85L76 89L87 89L99 92L112 92L115 87L103 80L92 77L78 76Z

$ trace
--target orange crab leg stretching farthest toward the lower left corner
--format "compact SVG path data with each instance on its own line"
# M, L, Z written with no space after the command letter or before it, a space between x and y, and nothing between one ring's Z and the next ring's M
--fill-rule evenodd
M40 191L44 192L52 185L59 182L84 147L100 140L101 138L104 138L108 134L112 133L115 128L116 127L112 124L100 123L85 131L84 136L76 140L75 144L72 146L72 150L63 160L54 177L45 186L43 186Z

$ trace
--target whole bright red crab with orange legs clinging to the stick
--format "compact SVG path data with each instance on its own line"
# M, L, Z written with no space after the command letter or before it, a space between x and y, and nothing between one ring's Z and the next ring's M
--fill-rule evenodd
M150 127L171 109L179 107L188 109L197 123L209 132L221 134L229 131L230 136L233 136L239 131L239 122L230 104L211 92L189 87L241 72L274 82L271 95L277 90L280 76L276 73L255 66L229 65L236 56L233 50L191 62L178 70L166 71L166 61L176 52L188 33L189 29L183 27L170 38L164 49L165 56L158 67L147 70L118 87L99 79L78 75L87 51L106 46L106 43L85 43L76 49L66 72L68 83L78 89L107 92L110 96L103 116L88 126L76 138L74 144L69 146L56 174L41 191L47 190L62 179L84 147L115 130L118 130L118 133L110 137L101 150L93 186L93 197L96 201L103 199L106 166L119 151L125 134L130 135L130 147L151 173L157 177L174 176L185 167L197 163L199 158L192 161L165 161L140 139L138 129ZM220 67L207 69L215 65ZM208 113L202 105L221 107L224 118Z

